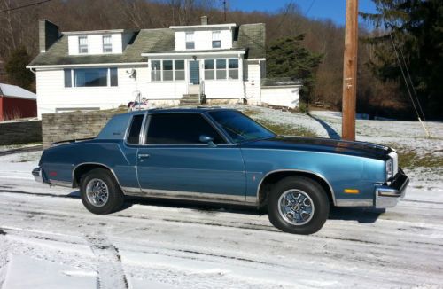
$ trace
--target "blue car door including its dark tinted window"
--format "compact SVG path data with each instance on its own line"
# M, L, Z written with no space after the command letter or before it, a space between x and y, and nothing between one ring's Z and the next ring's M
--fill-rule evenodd
M245 166L202 113L152 113L138 149L137 172L146 194L183 199L245 200ZM214 143L200 142L201 136Z

